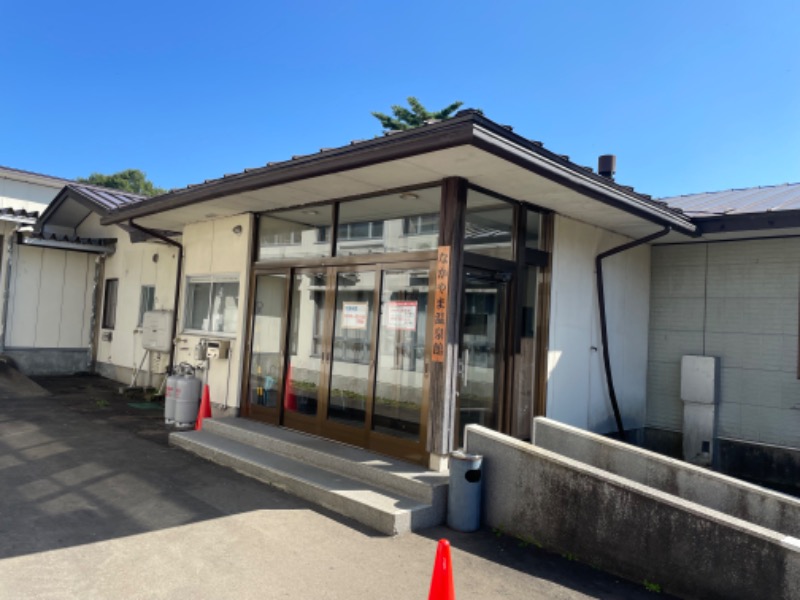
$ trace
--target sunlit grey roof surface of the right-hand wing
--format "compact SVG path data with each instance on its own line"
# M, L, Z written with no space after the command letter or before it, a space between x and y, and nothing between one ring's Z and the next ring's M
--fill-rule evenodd
M690 218L744 215L800 209L800 183L661 198Z

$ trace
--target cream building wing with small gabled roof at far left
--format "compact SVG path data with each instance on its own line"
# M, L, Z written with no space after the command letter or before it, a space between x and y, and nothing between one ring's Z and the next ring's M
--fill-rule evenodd
M3 173L0 200L42 211L0 209L0 220L14 219L2 225L4 355L31 375L97 372L130 384L139 369L140 385L159 385L171 356L145 355L142 316L174 313L177 248L124 225L100 224L110 210L146 198L16 169Z

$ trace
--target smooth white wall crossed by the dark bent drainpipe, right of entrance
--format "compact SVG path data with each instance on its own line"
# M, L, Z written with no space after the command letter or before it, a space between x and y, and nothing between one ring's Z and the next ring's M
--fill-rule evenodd
M557 216L552 254L547 416L597 433L616 431L600 341L595 257L631 241ZM625 429L645 421L650 248L603 262L611 365Z

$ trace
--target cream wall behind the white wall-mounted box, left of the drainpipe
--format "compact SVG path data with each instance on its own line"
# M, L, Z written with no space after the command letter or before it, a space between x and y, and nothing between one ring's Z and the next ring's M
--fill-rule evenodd
M132 244L128 233L116 226L100 225L100 217L90 215L78 228L79 236L116 238L116 250L105 258L102 278L98 282L97 339L95 360L103 363L101 372L123 383L130 383L133 369L144 357L142 330L138 325L141 288L155 286L155 310L172 310L175 294L175 275L178 267L178 249L164 243L141 242ZM103 340L103 306L105 281L118 279L116 323L111 339ZM169 356L151 353L143 364L144 374L138 385L158 385L165 372ZM150 378L148 373L153 373Z

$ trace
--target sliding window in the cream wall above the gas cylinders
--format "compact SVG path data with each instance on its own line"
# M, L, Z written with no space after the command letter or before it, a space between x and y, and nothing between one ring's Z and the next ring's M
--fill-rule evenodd
M190 277L186 282L183 327L192 331L236 333L238 277Z

